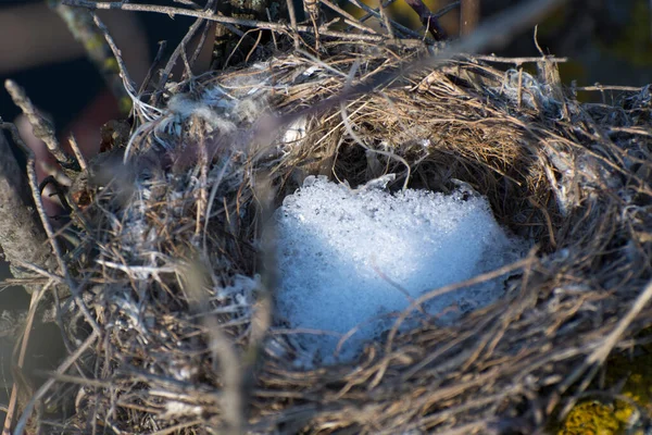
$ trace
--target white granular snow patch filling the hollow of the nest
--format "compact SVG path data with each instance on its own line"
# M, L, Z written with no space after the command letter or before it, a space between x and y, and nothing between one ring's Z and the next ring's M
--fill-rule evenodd
M396 319L391 314L425 291L524 253L525 244L509 237L487 199L468 188L449 196L410 189L391 195L384 184L352 190L309 177L276 212L278 313L296 330L291 339L325 363L346 361L365 341L380 338ZM442 295L425 309L450 323L496 301L503 282ZM355 326L360 330L335 352Z

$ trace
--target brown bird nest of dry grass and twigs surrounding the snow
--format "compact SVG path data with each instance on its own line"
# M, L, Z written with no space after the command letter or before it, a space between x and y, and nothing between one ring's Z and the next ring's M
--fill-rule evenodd
M177 84L90 166L67 260L86 310L64 327L86 347L49 391L65 433L531 434L652 323L649 88L582 103L490 59L400 75L426 54L327 49ZM461 284L510 273L499 302L398 334L413 304L355 361L306 370L274 315L271 213L308 175L386 173L468 183L536 248Z

